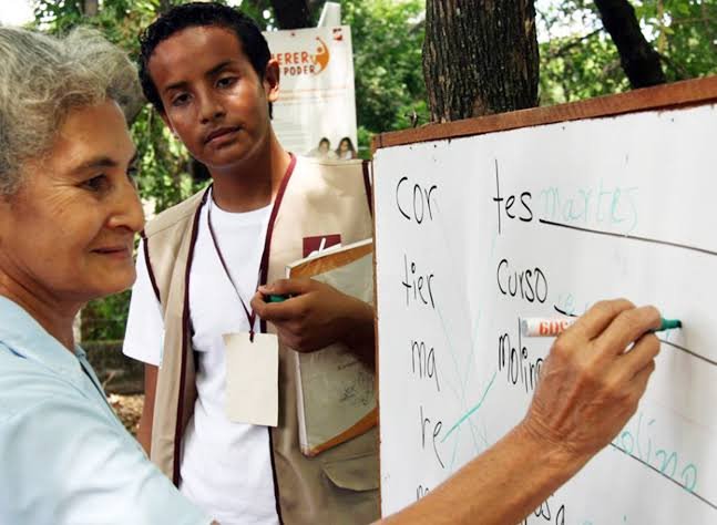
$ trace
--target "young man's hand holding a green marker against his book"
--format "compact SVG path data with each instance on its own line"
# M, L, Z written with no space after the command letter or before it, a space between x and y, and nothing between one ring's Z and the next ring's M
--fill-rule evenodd
M265 295L291 297L284 302L265 302ZM340 341L363 361L372 360L373 308L324 282L277 280L259 287L252 308L259 318L274 323L281 342L294 350L313 352Z

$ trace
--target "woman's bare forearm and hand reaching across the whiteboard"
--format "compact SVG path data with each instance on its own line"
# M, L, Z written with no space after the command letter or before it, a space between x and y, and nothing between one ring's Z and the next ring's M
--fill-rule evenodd
M591 308L553 344L524 420L387 525L521 522L626 424L655 369L655 308ZM628 350L625 349L634 342Z

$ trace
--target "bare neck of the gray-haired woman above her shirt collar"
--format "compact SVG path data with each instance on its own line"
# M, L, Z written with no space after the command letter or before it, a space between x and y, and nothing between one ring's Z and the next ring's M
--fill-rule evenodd
M52 299L44 290L33 291L17 279L0 270L0 296L6 297L24 309L71 352L74 352L72 325L82 303L65 305Z

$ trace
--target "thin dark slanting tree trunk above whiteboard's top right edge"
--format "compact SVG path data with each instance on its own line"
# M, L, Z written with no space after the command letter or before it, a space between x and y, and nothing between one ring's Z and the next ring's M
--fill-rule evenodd
M664 84L659 54L639 30L635 10L627 0L595 0L603 27L615 42L623 70L633 89Z

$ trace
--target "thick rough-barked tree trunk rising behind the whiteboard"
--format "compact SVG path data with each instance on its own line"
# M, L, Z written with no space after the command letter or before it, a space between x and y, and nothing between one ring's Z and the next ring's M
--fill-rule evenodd
M537 105L533 0L427 0L423 76L434 122Z

